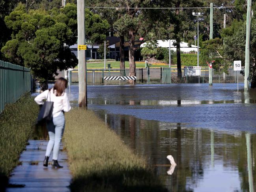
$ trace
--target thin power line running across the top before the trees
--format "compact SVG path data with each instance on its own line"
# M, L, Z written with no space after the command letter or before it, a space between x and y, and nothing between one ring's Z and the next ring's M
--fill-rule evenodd
M224 8L234 8L235 6L227 6L227 7L213 7L218 9ZM94 8L94 9L209 9L210 7L93 7L87 6L86 8Z

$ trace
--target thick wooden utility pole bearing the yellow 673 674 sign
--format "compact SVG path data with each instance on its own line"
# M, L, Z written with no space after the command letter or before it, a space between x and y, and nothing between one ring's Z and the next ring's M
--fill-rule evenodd
M84 0L77 0L77 44L85 45L85 26L84 26ZM77 46L78 47L78 46ZM87 107L87 88L86 88L86 63L85 51L78 50L78 81L79 81L79 107Z

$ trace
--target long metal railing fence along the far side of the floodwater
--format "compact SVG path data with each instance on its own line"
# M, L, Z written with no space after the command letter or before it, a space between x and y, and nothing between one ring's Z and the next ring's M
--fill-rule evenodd
M197 69L196 69L197 70ZM64 76L60 71L60 76ZM179 76L178 76L179 74ZM124 80L108 80L104 81L104 76L130 76L129 69L87 69L87 84L102 85L102 84L128 84ZM69 72L71 84L78 83L78 69ZM170 84L170 83L209 83L209 67L201 69L201 76L185 76L184 69L177 68L136 68L136 83L137 84ZM213 70L213 83L236 83L237 72L233 69L228 69L228 73L219 73ZM244 76L238 74L238 82L244 82Z

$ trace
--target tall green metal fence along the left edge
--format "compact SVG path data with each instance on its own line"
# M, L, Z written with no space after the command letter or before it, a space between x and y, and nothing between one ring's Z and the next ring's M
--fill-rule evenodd
M0 60L0 113L8 103L31 91L30 69Z

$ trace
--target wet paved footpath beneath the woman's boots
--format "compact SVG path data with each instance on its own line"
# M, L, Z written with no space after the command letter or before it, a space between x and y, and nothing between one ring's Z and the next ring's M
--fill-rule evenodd
M60 151L58 162L64 168L56 169L51 165L43 166L45 150L48 141L29 140L30 145L26 146L20 157L22 165L17 166L10 177L9 184L25 185L24 187L9 187L6 192L69 192L71 174L67 163L67 153ZM61 146L61 149L63 146ZM52 154L49 162L52 160ZM38 162L38 165L30 163Z

